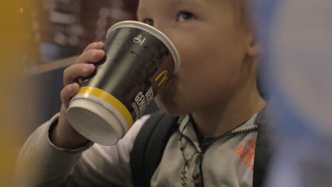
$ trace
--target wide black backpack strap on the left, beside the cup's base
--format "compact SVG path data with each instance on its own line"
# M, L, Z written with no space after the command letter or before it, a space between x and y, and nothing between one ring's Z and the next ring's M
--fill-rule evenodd
M172 132L177 130L177 117L157 111L138 132L131 151L131 173L134 186L150 186Z

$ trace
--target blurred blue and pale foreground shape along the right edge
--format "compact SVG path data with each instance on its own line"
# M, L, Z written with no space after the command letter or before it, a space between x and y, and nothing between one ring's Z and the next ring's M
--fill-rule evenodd
M255 0L272 91L267 186L332 186L332 1Z

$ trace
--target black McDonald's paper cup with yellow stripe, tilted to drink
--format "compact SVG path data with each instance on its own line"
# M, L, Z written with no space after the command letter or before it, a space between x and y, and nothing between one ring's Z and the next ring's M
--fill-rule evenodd
M104 51L72 98L67 118L89 140L114 145L177 72L179 55L166 35L137 21L112 26Z

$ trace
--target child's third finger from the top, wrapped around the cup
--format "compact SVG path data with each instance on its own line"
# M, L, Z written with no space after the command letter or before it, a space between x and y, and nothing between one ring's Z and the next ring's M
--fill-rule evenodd
M63 84L66 86L77 82L79 78L88 77L94 69L94 64L73 64L63 72Z

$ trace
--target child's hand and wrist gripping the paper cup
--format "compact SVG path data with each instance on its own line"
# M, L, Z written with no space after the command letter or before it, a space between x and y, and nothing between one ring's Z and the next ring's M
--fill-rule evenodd
M62 106L60 109L60 116L57 125L50 135L50 140L53 144L62 148L76 148L84 144L88 140L80 135L67 120L67 108L72 97L79 91L79 79L88 77L94 72L94 64L99 62L105 55L101 50L104 46L103 42L94 42L85 48L82 55L80 55L75 64L67 67L63 72L63 84L60 96Z

